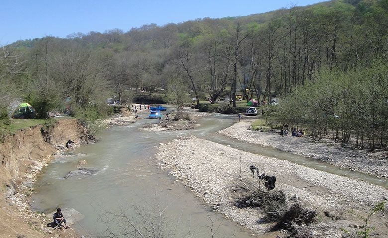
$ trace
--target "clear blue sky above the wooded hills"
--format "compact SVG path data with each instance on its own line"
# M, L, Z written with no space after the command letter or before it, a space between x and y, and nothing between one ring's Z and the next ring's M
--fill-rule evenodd
M1 0L0 45L197 18L245 16L323 0Z

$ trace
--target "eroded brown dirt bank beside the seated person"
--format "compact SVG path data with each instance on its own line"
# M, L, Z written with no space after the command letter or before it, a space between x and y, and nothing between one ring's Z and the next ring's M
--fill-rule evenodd
M48 228L52 214L36 214L30 210L28 197L34 191L36 175L57 149L71 139L82 142L84 129L76 119L61 119L49 129L34 126L0 143L0 237L12 238L75 238L72 230Z

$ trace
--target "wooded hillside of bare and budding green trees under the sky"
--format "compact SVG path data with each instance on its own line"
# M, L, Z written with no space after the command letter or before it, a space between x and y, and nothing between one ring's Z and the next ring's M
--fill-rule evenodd
M309 124L317 137L334 129L330 123L337 122L327 122L330 115L343 118L348 104L364 105L357 128L378 120L378 128L368 130L374 133L371 140L385 147L387 137L381 133L387 134L388 127L387 54L388 0L334 0L250 16L143 25L128 32L113 29L66 39L21 40L4 46L1 54L0 107L6 119L9 103L24 98L45 117L70 97L75 111L87 115L85 111L91 113L107 97L126 103L140 88L173 95L186 90L197 104L204 99L214 103L220 96L234 99L236 94L259 101L289 96L292 100L287 102L293 104L283 105L284 113L298 116L285 116L284 122ZM348 81L341 83L346 77ZM319 91L313 82L321 78L328 88L321 85ZM328 94L335 90L341 93ZM318 91L318 96L331 95L319 98L327 105L308 100ZM379 107L371 109L373 102ZM235 100L232 103L236 106ZM310 104L314 105L307 110ZM317 108L319 115L314 114ZM354 117L353 111L347 113ZM306 123L312 119L316 123ZM322 125L323 120L328 124ZM341 121L343 126L349 123L348 132L353 133L354 122ZM338 133L343 129L335 126Z

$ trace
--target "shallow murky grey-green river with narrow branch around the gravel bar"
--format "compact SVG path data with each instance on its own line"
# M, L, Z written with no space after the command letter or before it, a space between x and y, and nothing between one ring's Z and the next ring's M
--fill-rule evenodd
M146 118L146 114L141 115ZM355 179L383 185L386 182L349 170L341 170L327 163L304 158L270 147L255 146L222 136L216 132L231 126L235 115L211 114L199 120L200 126L194 130L150 132L142 131L147 123L158 123L157 119L140 119L129 126L116 126L102 131L98 143L81 146L65 155L53 159L38 177L35 194L32 196L32 208L49 214L57 207L74 208L85 218L74 224L81 234L88 231L90 237L97 237L106 230L103 222L107 211L118 214L120 209L136 220L134 210L143 215L154 215L154 211L163 210L163 222L174 227L175 237L207 238L211 236L211 222L214 222L214 237L252 237L252 233L238 224L211 212L200 199L175 181L168 171L158 169L155 160L159 143L168 143L177 136L194 135L199 138L244 151L290 160L308 167ZM64 179L69 171L77 170L77 163L86 160L83 167L96 169L93 176L72 176ZM212 221L210 220L210 218ZM193 235L194 233L194 235Z

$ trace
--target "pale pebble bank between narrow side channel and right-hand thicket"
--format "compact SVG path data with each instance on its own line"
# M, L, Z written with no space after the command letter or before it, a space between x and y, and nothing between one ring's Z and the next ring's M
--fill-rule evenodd
M388 179L387 151L370 153L368 150L358 150L352 146L342 147L340 143L334 143L328 139L316 142L308 136L280 136L278 133L252 131L250 128L251 120L248 119L235 123L219 133L247 143L270 146L304 157L322 160L341 168Z

